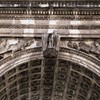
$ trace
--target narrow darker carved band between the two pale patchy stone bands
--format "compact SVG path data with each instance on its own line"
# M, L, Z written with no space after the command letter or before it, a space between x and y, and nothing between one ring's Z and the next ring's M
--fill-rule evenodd
M0 28L14 28L14 29L100 29L100 25L12 25L0 24Z

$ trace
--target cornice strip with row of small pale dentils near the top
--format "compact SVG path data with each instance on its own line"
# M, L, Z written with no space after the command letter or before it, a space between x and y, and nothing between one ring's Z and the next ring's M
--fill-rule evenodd
M32 8L29 11L26 8L0 8L0 14L1 15L6 15L6 14L11 14L11 15L29 15L28 13L31 12L30 15L100 15L100 9L83 9L80 8L79 10L76 9L71 9L71 8L66 8L66 9L61 9L61 8L55 8L53 11L50 11L50 9L47 8Z

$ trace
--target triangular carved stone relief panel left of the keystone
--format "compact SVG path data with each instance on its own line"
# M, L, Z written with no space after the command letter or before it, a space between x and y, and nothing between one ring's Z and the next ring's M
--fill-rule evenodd
M17 51L36 47L42 47L41 39L2 38L0 39L0 59L6 58Z

